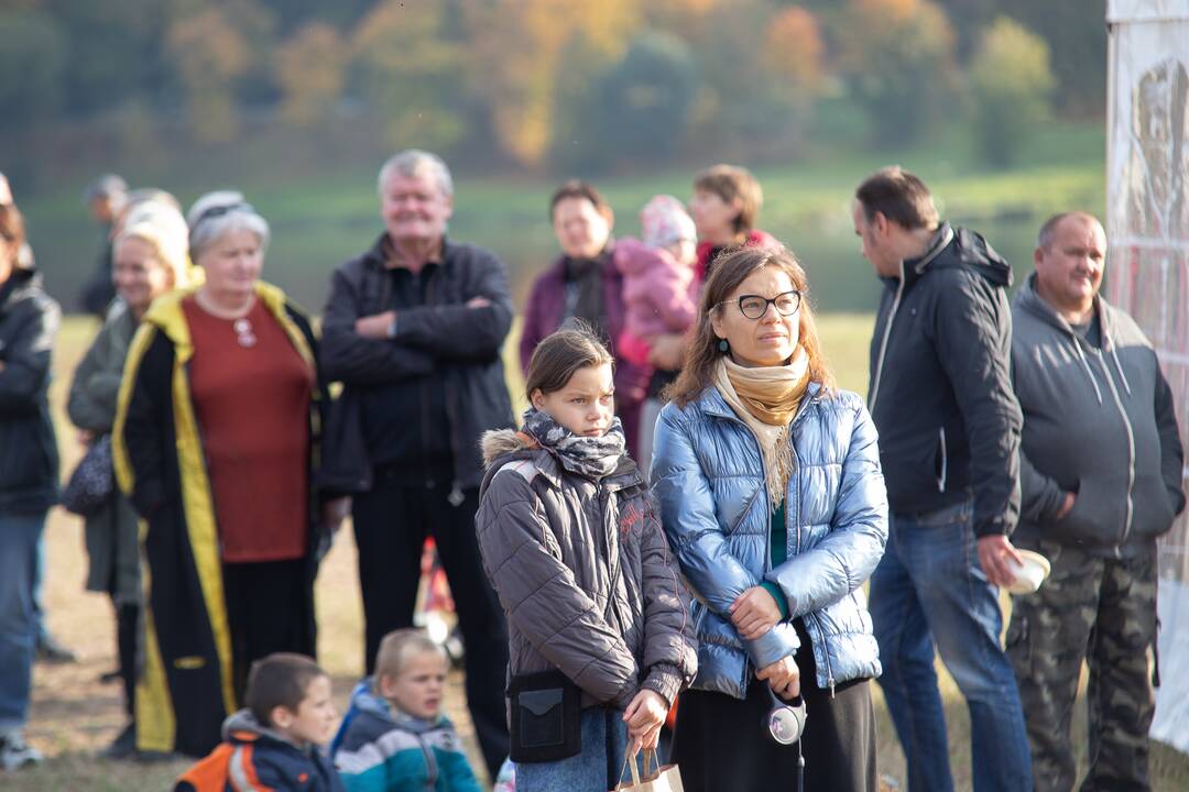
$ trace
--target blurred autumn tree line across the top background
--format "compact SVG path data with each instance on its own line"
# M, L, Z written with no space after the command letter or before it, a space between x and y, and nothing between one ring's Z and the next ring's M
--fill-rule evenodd
M323 153L421 145L598 172L798 156L814 134L894 147L965 123L1007 163L1051 112L1102 113L1103 13L1105 0L0 0L0 144L52 159L103 132L117 158L168 158L251 131Z

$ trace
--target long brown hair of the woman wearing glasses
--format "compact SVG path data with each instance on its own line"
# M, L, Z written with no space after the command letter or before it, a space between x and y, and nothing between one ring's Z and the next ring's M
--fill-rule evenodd
M813 310L810 308L809 280L805 270L789 251L785 248L743 247L724 253L715 261L713 272L702 290L698 303L698 327L693 341L685 353L685 367L681 375L666 391L665 397L684 407L713 381L715 367L718 360L728 354L718 348L719 338L710 323L713 311L723 310L722 303L730 298L748 277L762 268L776 267L793 281L793 289L801 293L801 306L798 310L798 343L805 348L810 359L810 380L818 382L826 391L835 389L833 373L822 354L817 327L813 324Z

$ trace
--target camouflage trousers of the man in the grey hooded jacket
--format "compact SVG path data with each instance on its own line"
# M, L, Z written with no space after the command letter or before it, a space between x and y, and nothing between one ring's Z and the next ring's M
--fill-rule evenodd
M1082 792L1149 790L1147 729L1156 709L1156 547L1099 558L1042 541L1052 574L1012 597L1007 654L1020 686L1037 792L1074 788L1070 717L1089 666L1089 773Z

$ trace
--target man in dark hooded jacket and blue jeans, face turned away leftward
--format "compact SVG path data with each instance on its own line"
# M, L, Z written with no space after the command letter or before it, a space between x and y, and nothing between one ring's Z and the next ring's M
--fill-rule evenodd
M886 167L855 194L855 234L885 283L868 406L887 482L887 549L872 621L908 786L952 790L933 648L970 710L974 788L1031 788L1024 715L999 642L999 585L1018 560L1020 408L1012 393L1012 271L942 223L925 184Z

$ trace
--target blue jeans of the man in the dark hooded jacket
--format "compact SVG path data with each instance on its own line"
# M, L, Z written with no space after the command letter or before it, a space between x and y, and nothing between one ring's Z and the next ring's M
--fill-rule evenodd
M999 589L979 565L971 505L891 514L872 575L870 612L887 698L908 760L910 792L954 790L933 648L970 710L976 792L1032 788L1024 712L999 635Z

